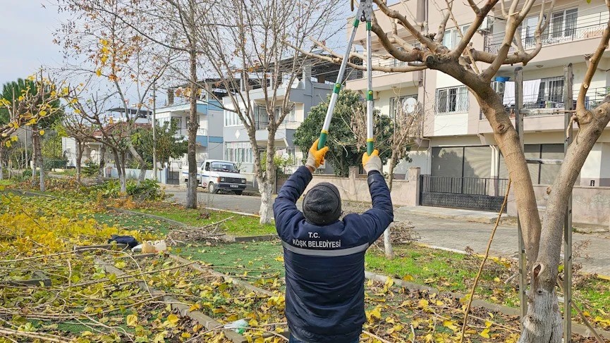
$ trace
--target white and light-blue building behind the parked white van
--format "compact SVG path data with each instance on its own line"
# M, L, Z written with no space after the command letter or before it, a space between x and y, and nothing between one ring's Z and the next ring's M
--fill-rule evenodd
M173 89L169 89L169 93L173 94ZM190 104L183 98L178 98L174 101L174 96L169 96L169 104L167 106L157 108L156 120L160 125L169 122L175 122L178 126L176 137L188 139L188 123L190 118ZM223 113L218 101L207 99L206 94L202 95L201 100L197 100L197 147L195 148L195 158L197 158L197 166L207 158L222 158L222 128L223 128ZM183 166L188 166L186 154L181 158L176 158L170 161L170 168L180 169Z

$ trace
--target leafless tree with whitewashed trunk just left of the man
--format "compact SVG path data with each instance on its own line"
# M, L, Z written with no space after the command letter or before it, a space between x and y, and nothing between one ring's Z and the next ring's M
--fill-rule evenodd
M303 70L311 61L295 54L290 46L310 51L307 37L322 37L338 11L334 0L314 0L307 4L291 0L230 0L217 4L206 15L209 27L198 27L198 39L210 74L218 81L205 82L210 91L226 91L224 110L236 113L248 132L255 164L255 177L261 194L260 222L272 220L272 193L275 182L275 137L292 110L291 89L298 86ZM305 80L302 79L303 82ZM262 93L255 104L253 89ZM214 96L213 92L209 94ZM264 108L264 114L257 106ZM262 116L261 116L262 114ZM260 146L257 130L267 131L267 142ZM261 158L264 151L266 158ZM265 161L262 165L261 161Z

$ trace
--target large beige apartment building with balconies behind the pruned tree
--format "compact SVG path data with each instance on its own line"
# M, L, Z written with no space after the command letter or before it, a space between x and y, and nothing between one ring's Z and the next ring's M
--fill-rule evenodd
M391 6L408 18L417 16L427 20L430 32L438 30L442 13L434 1L401 1ZM547 6L548 8L548 6ZM496 52L504 37L505 22L499 8L484 20L472 39L475 48ZM460 31L470 26L474 14L465 1L453 2L453 13L458 25L449 23L444 32L444 45L450 49L457 44ZM495 14L494 14L495 13ZM518 29L526 50L534 47L534 30L539 8L532 8L531 17ZM585 54L592 54L608 20L608 10L601 0L556 1L550 14L549 27L544 32L542 51L523 67L525 154L527 158L563 158L564 87L563 67L573 66L574 99L578 94L586 71ZM382 13L377 15L379 25L391 32L391 23ZM351 29L348 29L351 30ZM406 30L398 30L405 42L415 38ZM372 53L385 54L373 35ZM356 42L365 42L365 30L356 34ZM362 44L360 49L362 49ZM597 73L587 90L587 107L604 99L610 89L610 53L606 52ZM376 59L374 64L399 66L401 61ZM484 68L484 63L477 63ZM508 111L514 108L514 73L517 66L503 66L497 73L495 87L503 97ZM501 84L501 85L498 85ZM365 94L365 78L346 82L346 88ZM396 176L405 175L411 166L421 168L422 175L439 178L432 186L446 192L498 194L508 177L499 148L494 141L492 128L482 116L475 96L458 80L435 70L412 73L374 72L373 90L375 106L393 116L408 98L416 99L424 109L424 118L417 144L413 146L410 163L402 162ZM576 185L610 186L610 130L606 130L587 158ZM530 165L536 185L553 182L559 166ZM441 180L442 179L442 180ZM426 179L425 182L429 182ZM501 187L498 187L498 185ZM494 185L490 189L489 185ZM424 185L426 186L426 184ZM474 194L474 193L473 193ZM447 205L447 204L445 204Z

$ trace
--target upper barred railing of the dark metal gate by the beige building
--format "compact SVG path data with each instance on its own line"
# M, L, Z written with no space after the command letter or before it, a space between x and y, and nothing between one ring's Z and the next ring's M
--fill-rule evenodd
M496 177L451 177L422 175L422 192L502 197L508 179Z

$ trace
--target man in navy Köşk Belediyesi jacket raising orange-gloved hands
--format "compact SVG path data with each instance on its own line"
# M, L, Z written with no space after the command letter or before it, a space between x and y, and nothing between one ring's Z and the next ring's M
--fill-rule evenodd
M307 163L281 187L274 203L286 266L286 318L290 342L358 342L365 323L365 252L394 220L390 192L375 150L362 156L372 208L341 216L338 189L323 182L295 203L324 163L327 147L312 145Z

